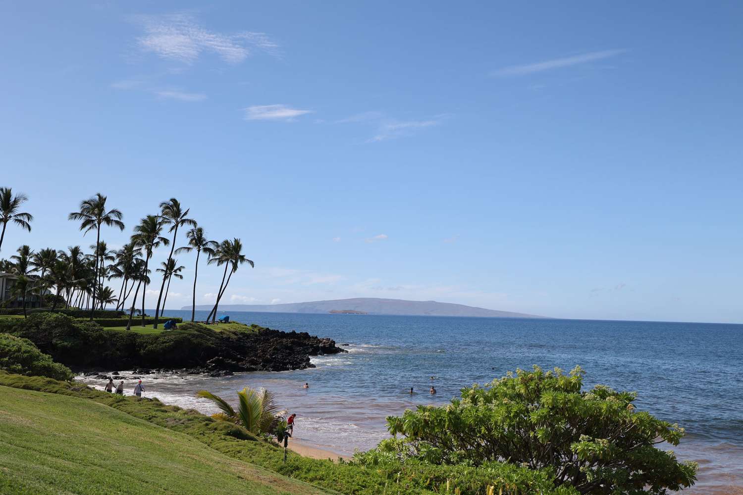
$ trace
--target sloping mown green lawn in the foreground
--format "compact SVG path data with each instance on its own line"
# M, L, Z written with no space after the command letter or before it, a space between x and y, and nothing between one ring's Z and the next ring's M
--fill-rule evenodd
M0 494L326 494L97 402L0 386Z

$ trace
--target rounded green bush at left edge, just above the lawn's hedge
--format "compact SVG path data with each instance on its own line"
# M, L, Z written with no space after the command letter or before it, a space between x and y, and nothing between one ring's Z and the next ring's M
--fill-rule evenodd
M52 361L27 338L0 333L0 370L30 376L47 376L57 380L71 380L71 370Z

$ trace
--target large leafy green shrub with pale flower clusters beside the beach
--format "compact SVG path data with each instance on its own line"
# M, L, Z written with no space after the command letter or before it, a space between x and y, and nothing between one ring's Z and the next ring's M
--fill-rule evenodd
M636 393L603 385L582 390L583 375L580 367L569 376L559 369L516 370L490 388L462 389L461 399L446 407L389 416L395 438L358 460L480 467L509 459L549 470L555 485L583 494L665 494L694 484L695 463L655 448L663 441L678 445L683 428L635 410Z

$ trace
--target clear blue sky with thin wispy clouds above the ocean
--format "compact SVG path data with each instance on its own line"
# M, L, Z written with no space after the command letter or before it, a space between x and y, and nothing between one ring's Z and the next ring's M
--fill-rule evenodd
M227 302L741 321L741 19L734 1L4 2L0 183L36 220L2 255L94 242L66 216L97 191L125 215L111 246L175 196L256 262ZM220 276L200 271L198 303Z

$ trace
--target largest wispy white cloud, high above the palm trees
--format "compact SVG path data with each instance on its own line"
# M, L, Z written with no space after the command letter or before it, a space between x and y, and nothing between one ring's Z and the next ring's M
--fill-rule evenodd
M279 46L265 33L216 33L201 27L189 13L159 16L134 16L144 31L137 38L140 50L155 53L163 59L192 64L203 53L214 53L224 62L239 64L253 48L278 53Z

